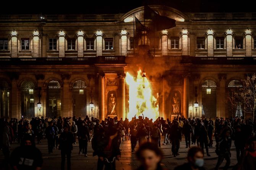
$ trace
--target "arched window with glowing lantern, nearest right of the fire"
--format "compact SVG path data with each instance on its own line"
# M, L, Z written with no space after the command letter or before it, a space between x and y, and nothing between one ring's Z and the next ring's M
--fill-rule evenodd
M202 84L202 116L215 118L217 115L216 83L210 79Z

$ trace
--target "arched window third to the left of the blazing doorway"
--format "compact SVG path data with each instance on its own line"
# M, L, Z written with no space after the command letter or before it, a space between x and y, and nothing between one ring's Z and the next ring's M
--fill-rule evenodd
M21 84L21 116L24 118L35 117L35 85L31 81L24 81Z

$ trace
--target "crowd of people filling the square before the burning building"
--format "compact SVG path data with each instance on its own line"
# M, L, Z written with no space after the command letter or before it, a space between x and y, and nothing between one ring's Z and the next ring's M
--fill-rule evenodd
M188 164L176 167L175 170L192 166L191 169L204 169L204 154L209 154L208 148L215 148L218 160L215 169L219 169L226 160L224 169L230 166L230 148L232 140L236 148L237 168L256 169L256 121L241 118L184 118L173 120L164 118L149 119L144 116L134 116L131 120L117 117L105 118L15 118L0 119L1 148L8 169L37 169L42 166L42 154L35 149L35 143L47 140L48 153L54 149L61 151L61 170L65 169L67 160L68 170L71 169L71 151L78 142L79 152L87 157L87 145L91 142L93 156L98 156L97 170L105 166L107 170L115 170L115 160L121 157L120 145L124 140L130 140L131 152L139 145L136 156L141 162L141 169L161 169L160 162L162 145L171 145L173 157L179 156L180 141L185 140L188 151ZM184 136L184 137L182 137ZM163 140L161 140L161 137ZM36 139L36 142L35 142ZM213 144L215 140L216 145ZM21 143L10 153L11 143ZM23 153L26 150L28 152ZM21 154L23 153L23 154ZM29 154L31 153L31 154ZM31 156L31 155L35 156ZM21 159L22 158L22 159ZM148 160L148 161L146 161ZM25 167L25 168L24 168ZM151 168L149 168L151 167ZM153 168L152 168L153 167Z

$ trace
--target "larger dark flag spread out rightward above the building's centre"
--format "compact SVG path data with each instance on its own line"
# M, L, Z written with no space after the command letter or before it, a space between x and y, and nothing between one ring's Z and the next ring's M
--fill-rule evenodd
M152 19L156 31L170 29L176 26L175 19L157 14L156 11L147 5L144 6L144 19Z

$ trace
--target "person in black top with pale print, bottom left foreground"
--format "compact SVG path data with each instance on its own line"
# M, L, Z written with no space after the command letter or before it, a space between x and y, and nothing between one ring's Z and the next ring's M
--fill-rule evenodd
M32 137L25 137L21 146L11 153L10 165L13 170L41 170L42 153L36 148Z

